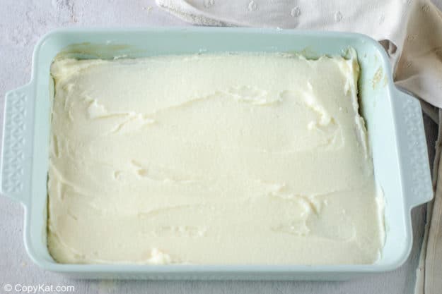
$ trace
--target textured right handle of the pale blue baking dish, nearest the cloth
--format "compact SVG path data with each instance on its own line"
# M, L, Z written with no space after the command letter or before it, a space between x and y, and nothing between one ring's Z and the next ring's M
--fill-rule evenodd
M433 199L429 157L426 149L424 121L421 104L407 90L395 91L400 111L395 111L397 122L404 132L398 132L402 187L409 209Z

